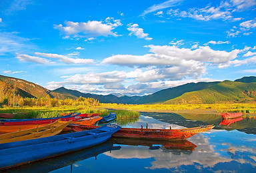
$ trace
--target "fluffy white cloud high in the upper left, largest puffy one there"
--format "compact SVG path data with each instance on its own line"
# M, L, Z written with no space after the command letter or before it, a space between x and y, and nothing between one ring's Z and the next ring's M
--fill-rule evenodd
M117 33L113 32L113 29L121 26L119 19L113 17L107 17L105 21L87 21L85 22L73 22L65 21L65 27L63 25L54 25L55 29L58 29L65 36L63 39L77 38L79 37L118 37Z

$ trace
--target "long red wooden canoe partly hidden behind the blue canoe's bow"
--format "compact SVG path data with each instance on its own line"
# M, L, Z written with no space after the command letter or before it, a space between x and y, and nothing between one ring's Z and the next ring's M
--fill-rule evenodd
M83 131L98 128L99 126L69 126L74 131ZM185 140L199 132L211 130L214 126L199 126L183 129L155 129L155 128L121 128L113 134L118 138L137 138L146 140Z

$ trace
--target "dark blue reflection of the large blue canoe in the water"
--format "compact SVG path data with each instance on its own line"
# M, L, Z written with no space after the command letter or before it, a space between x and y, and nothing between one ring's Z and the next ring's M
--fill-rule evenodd
M105 142L98 146L92 148L87 148L84 150L79 150L77 152L71 152L69 154L64 154L54 158L49 158L45 160L40 160L30 164L25 164L23 166L18 166L5 170L6 172L51 172L53 170L58 170L65 166L71 166L71 172L73 170L73 164L81 160L86 160L87 158L95 157L104 152L112 150L120 150L121 146L113 146L112 142Z

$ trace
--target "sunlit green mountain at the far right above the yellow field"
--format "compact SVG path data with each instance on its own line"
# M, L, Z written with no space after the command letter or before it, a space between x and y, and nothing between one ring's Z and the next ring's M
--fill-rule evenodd
M223 81L217 85L186 92L167 100L165 104L213 104L231 102L252 102L256 100L256 83Z

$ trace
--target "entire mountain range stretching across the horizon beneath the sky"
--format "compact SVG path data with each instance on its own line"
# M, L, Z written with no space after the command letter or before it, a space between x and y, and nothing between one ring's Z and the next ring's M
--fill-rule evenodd
M90 94L64 87L48 90L23 79L0 75L0 98L13 92L22 97L41 98L49 95L51 98L95 98L101 103L123 104L207 104L223 102L254 102L256 99L256 77L243 77L235 81L216 81L187 83L159 90L146 96L122 96L121 94ZM1 100L1 99L0 99Z

